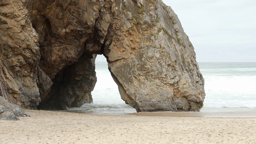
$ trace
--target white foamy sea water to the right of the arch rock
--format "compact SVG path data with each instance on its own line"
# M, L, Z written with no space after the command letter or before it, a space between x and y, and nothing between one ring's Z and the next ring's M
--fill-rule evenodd
M256 108L256 62L199 62L205 99L201 111Z

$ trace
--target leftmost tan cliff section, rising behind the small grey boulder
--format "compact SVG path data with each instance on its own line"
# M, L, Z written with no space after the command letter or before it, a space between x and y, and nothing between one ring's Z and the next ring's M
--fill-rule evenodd
M40 60L38 34L28 19L24 1L0 3L0 57L10 101L22 108L40 102L36 84Z

